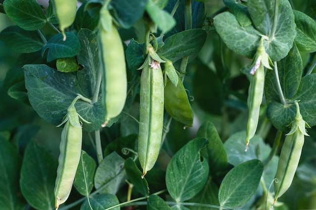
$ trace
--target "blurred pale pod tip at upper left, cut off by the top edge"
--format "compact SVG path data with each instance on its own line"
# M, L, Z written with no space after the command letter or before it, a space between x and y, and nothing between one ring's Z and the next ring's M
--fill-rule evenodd
M66 40L65 28L71 26L76 18L77 0L54 0L55 13L59 22L59 28Z

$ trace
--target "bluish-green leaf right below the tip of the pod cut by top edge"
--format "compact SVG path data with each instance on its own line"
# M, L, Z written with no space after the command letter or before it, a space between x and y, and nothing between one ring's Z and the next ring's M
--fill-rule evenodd
M48 40L46 45L42 48L42 56L47 52L47 62L61 57L73 57L79 54L80 43L77 36L73 33L66 32L67 39L63 41L61 33L56 34Z

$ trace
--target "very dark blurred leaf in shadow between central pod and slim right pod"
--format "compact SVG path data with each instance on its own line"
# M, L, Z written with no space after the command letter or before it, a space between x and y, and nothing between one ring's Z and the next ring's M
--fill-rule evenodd
M191 65L192 70L194 69L192 79L194 101L208 113L222 114L224 102L222 81L200 60L195 59Z

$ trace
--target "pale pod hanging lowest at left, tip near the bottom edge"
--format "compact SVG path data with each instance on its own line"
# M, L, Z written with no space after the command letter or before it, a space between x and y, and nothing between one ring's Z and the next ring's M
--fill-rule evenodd
M75 179L77 167L80 161L81 144L81 126L73 126L70 120L67 120L62 131L60 156L58 159L59 165L57 169L57 178L55 183L56 209L58 209L59 205L64 203L69 197Z

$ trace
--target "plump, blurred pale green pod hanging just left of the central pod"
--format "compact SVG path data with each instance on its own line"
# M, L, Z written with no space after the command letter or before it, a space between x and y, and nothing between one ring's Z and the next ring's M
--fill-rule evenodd
M127 76L125 54L121 37L115 25L111 30L100 27L98 32L100 43L100 60L102 67L102 103L106 109L107 122L118 116L125 105L127 95Z

